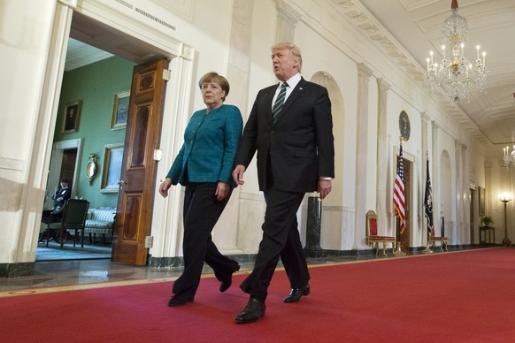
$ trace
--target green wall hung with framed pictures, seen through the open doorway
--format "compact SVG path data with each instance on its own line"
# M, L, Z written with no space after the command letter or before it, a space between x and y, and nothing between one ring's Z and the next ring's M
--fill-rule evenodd
M109 57L100 62L65 72L59 100L58 121L54 142L83 139L83 149L76 168L78 180L75 195L87 199L90 208L116 206L118 193L102 193L104 171L104 146L123 143L125 128L112 130L113 97L131 88L134 63L119 57ZM81 100L79 128L75 133L62 133L65 104ZM89 185L86 177L88 156L95 153L97 173Z

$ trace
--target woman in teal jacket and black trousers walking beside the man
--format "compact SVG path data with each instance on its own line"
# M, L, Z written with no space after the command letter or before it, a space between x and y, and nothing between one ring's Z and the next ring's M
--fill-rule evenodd
M173 283L168 306L182 306L194 300L204 262L219 279L220 292L232 283L240 265L220 254L211 240L211 231L229 201L234 183L231 172L242 136L242 114L236 106L224 104L229 82L216 72L206 73L198 83L206 109L196 111L184 133L184 143L175 157L159 193L178 183L184 194L184 271Z

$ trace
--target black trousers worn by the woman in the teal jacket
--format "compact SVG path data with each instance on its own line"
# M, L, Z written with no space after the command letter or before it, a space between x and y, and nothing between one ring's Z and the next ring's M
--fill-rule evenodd
M217 183L189 182L186 186L182 241L184 271L173 283L173 294L178 298L190 299L195 296L204 262L220 281L238 268L238 263L220 254L211 240L211 231L232 194L231 190L227 198L219 202L215 195L216 188Z

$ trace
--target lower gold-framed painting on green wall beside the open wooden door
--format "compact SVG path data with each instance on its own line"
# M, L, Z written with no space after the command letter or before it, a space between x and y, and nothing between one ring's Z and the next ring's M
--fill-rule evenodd
M118 180L121 175L123 162L123 143L107 144L104 146L104 169L102 172L102 193L117 193Z

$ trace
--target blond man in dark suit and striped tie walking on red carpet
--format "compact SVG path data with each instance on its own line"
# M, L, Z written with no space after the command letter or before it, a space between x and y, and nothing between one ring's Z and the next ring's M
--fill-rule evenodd
M334 178L333 120L327 89L301 77L302 57L293 43L275 44L272 62L281 82L259 91L233 171L234 181L242 185L243 173L258 151L259 189L266 202L254 270L241 286L250 300L236 316L237 323L265 316L267 288L280 256L291 286L284 302L299 301L311 292L296 212L306 192L318 191L325 198Z

